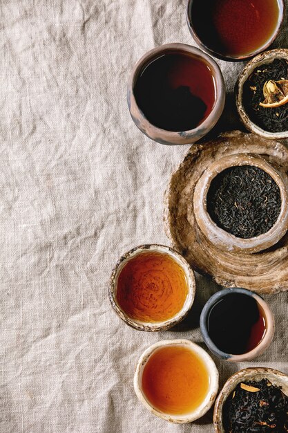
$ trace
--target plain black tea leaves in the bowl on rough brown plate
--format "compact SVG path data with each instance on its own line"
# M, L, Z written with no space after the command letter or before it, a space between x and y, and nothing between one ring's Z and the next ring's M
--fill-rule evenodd
M278 219L280 190L264 170L241 165L223 170L211 182L207 211L218 227L249 239L268 232Z

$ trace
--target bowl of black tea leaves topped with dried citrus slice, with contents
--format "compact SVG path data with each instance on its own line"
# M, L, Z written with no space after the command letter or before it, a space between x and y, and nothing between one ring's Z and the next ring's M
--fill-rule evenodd
M288 50L265 51L244 66L236 107L244 126L263 138L288 138Z

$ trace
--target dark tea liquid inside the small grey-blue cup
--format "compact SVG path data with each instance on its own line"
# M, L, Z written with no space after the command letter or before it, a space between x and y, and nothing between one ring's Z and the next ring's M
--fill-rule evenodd
M207 317L207 329L218 349L241 355L258 346L264 337L265 317L253 297L231 293L213 305Z

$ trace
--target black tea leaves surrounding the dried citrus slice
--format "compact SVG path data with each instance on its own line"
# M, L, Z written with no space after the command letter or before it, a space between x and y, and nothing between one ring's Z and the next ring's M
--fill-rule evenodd
M269 132L288 131L288 103L280 107L261 107L263 88L269 80L277 82L288 79L288 62L275 59L269 64L258 66L243 86L243 105L249 118Z

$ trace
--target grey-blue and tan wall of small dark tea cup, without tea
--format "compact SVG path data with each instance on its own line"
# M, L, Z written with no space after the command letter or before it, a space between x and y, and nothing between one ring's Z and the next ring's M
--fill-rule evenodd
M230 295L231 293L242 293L243 295L251 296L256 300L258 305L260 306L260 309L262 311L262 314L265 319L265 325L266 325L266 332L258 344L254 349L247 353L242 353L240 355L233 355L232 353L225 353L218 349L217 346L215 346L213 340L211 340L208 326L207 326L207 320L209 317L209 313L211 311L211 308L217 304L223 297ZM214 353L215 356L218 356L218 358L222 360L227 361L233 361L233 362L242 362L242 361L248 361L252 360L253 358L256 358L257 356L260 356L261 353L263 353L267 347L271 344L273 340L273 335L275 332L275 321L273 314L271 313L271 310L268 306L268 304L265 302L265 300L262 299L259 295L256 293L253 293L251 291L246 290L245 288L224 288L224 290L219 291L212 295L210 299L207 301L207 303L204 305L204 308L201 312L200 316L200 329L202 333L202 337L204 339L204 342L207 344L207 347L211 350L212 353Z

